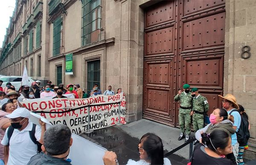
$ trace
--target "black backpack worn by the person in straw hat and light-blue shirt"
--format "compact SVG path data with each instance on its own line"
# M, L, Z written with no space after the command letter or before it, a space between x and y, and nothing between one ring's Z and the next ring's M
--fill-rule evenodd
M233 111L239 111L237 109L234 109L230 112L230 115ZM239 113L240 114L240 113ZM239 130L236 132L237 142L240 146L245 146L248 142L248 139L250 138L250 132L249 132L249 121L247 117L244 115L241 115L241 124L239 127Z

